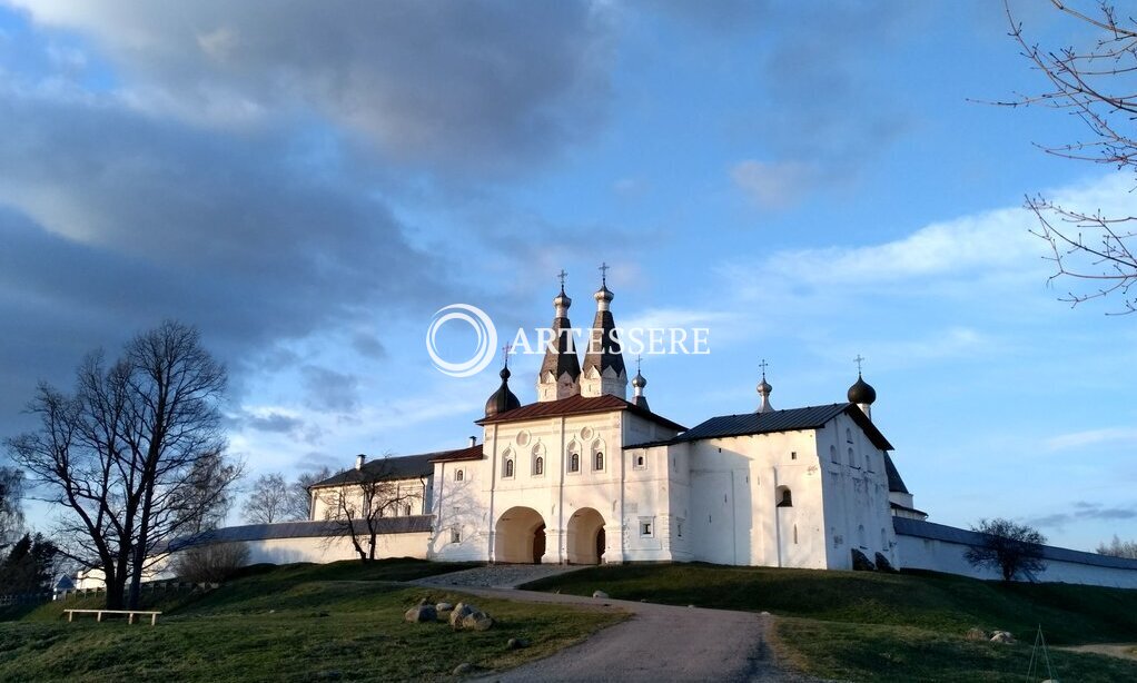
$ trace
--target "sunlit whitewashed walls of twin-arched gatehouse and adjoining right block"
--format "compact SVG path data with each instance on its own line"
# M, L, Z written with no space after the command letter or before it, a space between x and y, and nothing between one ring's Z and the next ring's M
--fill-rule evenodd
M489 422L482 459L435 464L430 557L822 569L852 567L856 548L895 565L885 452L833 411L820 428L687 441L626 408Z

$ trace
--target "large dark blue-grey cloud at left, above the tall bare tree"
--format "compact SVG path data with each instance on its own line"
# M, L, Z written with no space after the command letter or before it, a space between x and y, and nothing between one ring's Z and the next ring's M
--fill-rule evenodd
M375 189L296 163L287 131L13 91L0 128L0 357L18 359L0 377L5 433L36 380L67 385L86 350L117 353L166 317L197 325L240 384L250 359L297 363L280 340L445 291Z

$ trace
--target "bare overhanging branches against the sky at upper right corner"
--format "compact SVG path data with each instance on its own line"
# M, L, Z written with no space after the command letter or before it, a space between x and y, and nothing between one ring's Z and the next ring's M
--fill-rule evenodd
M1019 95L999 105L1049 107L1077 116L1089 130L1089 139L1055 147L1049 153L1070 159L1105 164L1137 172L1137 22L1119 19L1109 2L1096 3L1082 13L1067 2L1051 0L1055 9L1081 26L1097 32L1090 45L1044 48L1028 41L1022 25L1004 0L1011 35L1022 55L1047 81L1040 94ZM1047 260L1054 264L1049 281L1082 283L1070 290L1063 301L1082 301L1115 294L1121 313L1137 310L1137 216L1105 216L1099 208L1063 207L1045 197L1028 197L1027 208L1038 218L1031 231L1049 244Z

